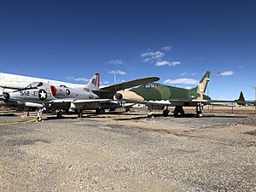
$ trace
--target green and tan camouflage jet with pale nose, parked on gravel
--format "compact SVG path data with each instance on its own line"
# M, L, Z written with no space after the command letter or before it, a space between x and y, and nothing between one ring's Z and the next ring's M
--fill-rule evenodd
M196 116L202 117L203 105L211 104L212 102L237 102L212 100L209 96L206 96L205 91L209 81L210 72L207 71L200 83L191 90L151 83L131 90L120 91L114 95L113 99L145 104L150 110L148 115L152 115L153 109L159 109L163 110L164 116L167 116L169 113L168 107L174 106L174 117L184 114L183 107L194 106Z

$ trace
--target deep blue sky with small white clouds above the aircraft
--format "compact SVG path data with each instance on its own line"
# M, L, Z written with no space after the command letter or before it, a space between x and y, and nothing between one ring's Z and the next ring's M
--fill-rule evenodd
M101 73L194 87L207 70L214 99L256 85L256 2L0 1L0 71L71 83Z

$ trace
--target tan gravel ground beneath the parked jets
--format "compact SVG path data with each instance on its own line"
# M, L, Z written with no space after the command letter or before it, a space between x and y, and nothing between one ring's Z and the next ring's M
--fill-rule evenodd
M0 114L0 191L256 191L254 115L84 116Z

